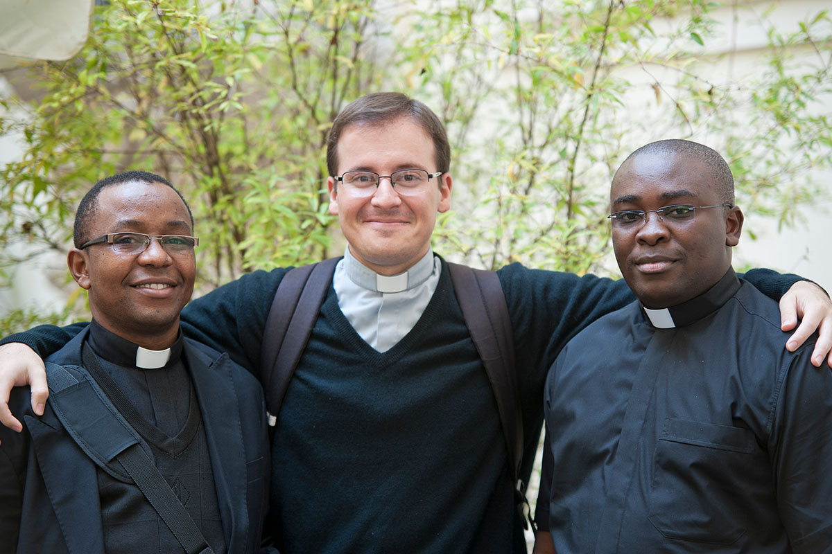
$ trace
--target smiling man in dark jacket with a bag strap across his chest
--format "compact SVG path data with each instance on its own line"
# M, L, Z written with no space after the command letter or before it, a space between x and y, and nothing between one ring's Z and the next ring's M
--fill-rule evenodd
M158 175L114 175L82 199L67 264L92 325L47 359L42 417L12 392L25 430L0 429L0 552L260 552L262 391L180 332L192 234L190 208ZM134 481L136 456L190 523L157 512Z

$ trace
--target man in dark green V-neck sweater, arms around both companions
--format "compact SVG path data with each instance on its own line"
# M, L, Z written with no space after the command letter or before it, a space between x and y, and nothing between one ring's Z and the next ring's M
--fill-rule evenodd
M280 552L526 552L493 390L448 265L430 246L437 213L450 208L449 160L442 123L408 96L363 96L334 120L330 213L349 246L277 414L271 531ZM191 302L184 332L257 370L287 271L253 272ZM557 352L633 297L623 281L517 263L498 277L532 451ZM796 279L766 270L746 278L774 297ZM832 345L832 304L815 285L797 287L808 296L795 301L790 293L784 317L794 325L798 304L812 306L792 339L804 341L822 323L820 365ZM46 354L75 332L48 328L13 338ZM28 380L45 390L42 378L17 370L7 355L0 351L0 391ZM4 414L0 420L13 424Z

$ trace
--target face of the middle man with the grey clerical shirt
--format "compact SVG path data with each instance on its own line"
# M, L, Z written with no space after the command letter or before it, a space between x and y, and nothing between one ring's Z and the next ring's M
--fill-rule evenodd
M339 175L366 170L389 175L400 169L438 170L433 141L407 117L389 122L350 125L338 140ZM431 179L422 194L400 196L382 179L372 196L359 198L349 189L329 186L329 213L338 216L349 252L383 275L406 271L428 252L436 214L450 208L451 176Z

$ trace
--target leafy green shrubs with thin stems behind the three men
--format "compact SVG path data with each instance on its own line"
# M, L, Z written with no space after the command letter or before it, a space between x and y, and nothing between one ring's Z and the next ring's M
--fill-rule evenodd
M720 150L738 203L784 224L832 158L826 12L771 30L763 74L721 79L730 55L706 47L725 29L701 0L241 6L114 0L75 58L32 66L41 96L0 120L27 146L2 170L3 245L66 248L92 183L148 169L191 200L203 287L338 253L325 137L369 91L407 92L448 126L455 213L435 248L484 267L602 271L612 173L651 140Z

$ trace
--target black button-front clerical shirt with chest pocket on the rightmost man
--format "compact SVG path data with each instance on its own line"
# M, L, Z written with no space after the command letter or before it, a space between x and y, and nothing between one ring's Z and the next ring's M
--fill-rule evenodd
M537 521L569 552L832 552L832 373L729 270L587 327L547 380ZM657 317L656 317L657 316ZM548 508L548 509L547 509Z

